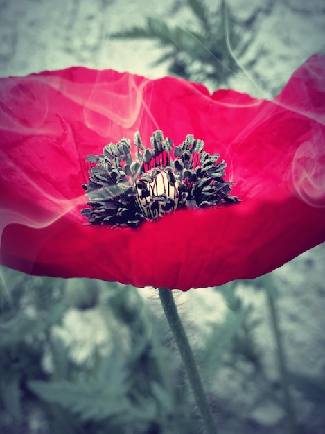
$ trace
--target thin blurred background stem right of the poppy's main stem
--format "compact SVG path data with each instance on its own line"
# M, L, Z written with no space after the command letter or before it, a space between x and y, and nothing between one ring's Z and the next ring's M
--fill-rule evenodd
M272 329L274 332L274 337L276 340L276 347L277 347L277 355L278 355L278 363L279 363L279 372L280 372L280 378L281 378L281 385L283 389L283 395L284 395L284 406L286 409L288 422L290 425L290 432L292 434L299 434L301 431L298 428L297 425L297 419L295 416L295 409L292 405L292 400L290 397L290 391L289 391L289 381L288 381L288 370L286 365L286 356L283 349L283 342L281 338L281 332L279 329L279 318L278 313L276 310L276 302L274 300L274 295L270 293L270 291L266 291L267 293L267 302L269 304L270 309L270 316L271 316L271 322L272 322Z

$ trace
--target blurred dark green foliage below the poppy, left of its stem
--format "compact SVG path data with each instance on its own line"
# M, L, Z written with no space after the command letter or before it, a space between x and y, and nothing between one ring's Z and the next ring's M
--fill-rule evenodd
M30 432L30 403L42 410L37 433L197 432L179 358L159 332L167 324L151 318L136 288L1 273L1 433ZM82 363L55 333L76 308L97 309L112 345Z

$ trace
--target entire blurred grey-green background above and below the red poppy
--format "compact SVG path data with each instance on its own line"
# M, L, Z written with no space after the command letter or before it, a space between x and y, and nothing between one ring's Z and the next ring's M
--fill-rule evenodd
M323 0L0 0L2 77L83 65L272 98L324 41ZM324 434L324 258L175 292L220 433ZM1 268L0 432L204 433L157 291Z

